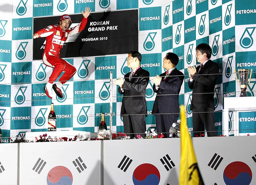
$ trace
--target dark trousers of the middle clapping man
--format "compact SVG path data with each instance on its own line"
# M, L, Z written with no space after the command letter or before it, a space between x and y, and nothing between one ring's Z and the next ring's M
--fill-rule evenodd
M158 134L163 133L164 138L170 138L170 128L173 123L176 123L178 120L178 114L159 114L157 110L156 114L156 132ZM167 132L167 133L164 133Z

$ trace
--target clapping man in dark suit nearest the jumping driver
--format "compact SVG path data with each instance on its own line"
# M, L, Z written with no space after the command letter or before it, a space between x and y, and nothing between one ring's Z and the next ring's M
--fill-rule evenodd
M140 67L141 54L137 51L128 53L127 66L132 68L130 73L114 81L119 85L118 92L123 94L121 115L124 121L124 133L131 138L140 133L145 136L146 131L146 87L149 81L149 72ZM141 134L142 133L142 134Z

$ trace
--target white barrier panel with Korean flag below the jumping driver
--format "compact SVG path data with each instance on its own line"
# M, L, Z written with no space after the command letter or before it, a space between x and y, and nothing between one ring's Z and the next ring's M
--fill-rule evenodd
M100 141L20 145L20 185L100 185Z

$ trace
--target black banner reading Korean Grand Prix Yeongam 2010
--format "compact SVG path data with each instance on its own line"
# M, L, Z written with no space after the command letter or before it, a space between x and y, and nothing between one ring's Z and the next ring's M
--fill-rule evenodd
M72 24L82 14L71 15ZM34 18L33 32L58 24L58 17ZM74 27L71 25L71 27ZM42 60L45 38L33 41L33 60ZM60 51L61 58L104 56L138 51L138 10L91 13L84 30L71 36Z

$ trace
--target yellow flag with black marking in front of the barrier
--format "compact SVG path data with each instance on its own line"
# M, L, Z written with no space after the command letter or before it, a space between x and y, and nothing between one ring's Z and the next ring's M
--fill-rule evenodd
M185 107L180 107L180 185L203 185L192 141L187 129Z

